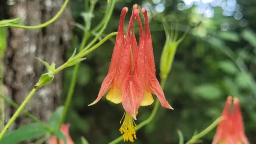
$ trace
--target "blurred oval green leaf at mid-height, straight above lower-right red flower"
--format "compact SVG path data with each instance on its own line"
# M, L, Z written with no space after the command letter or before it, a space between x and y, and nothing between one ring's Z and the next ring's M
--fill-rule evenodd
M228 74L236 74L239 72L235 63L229 60L219 62L219 68Z

